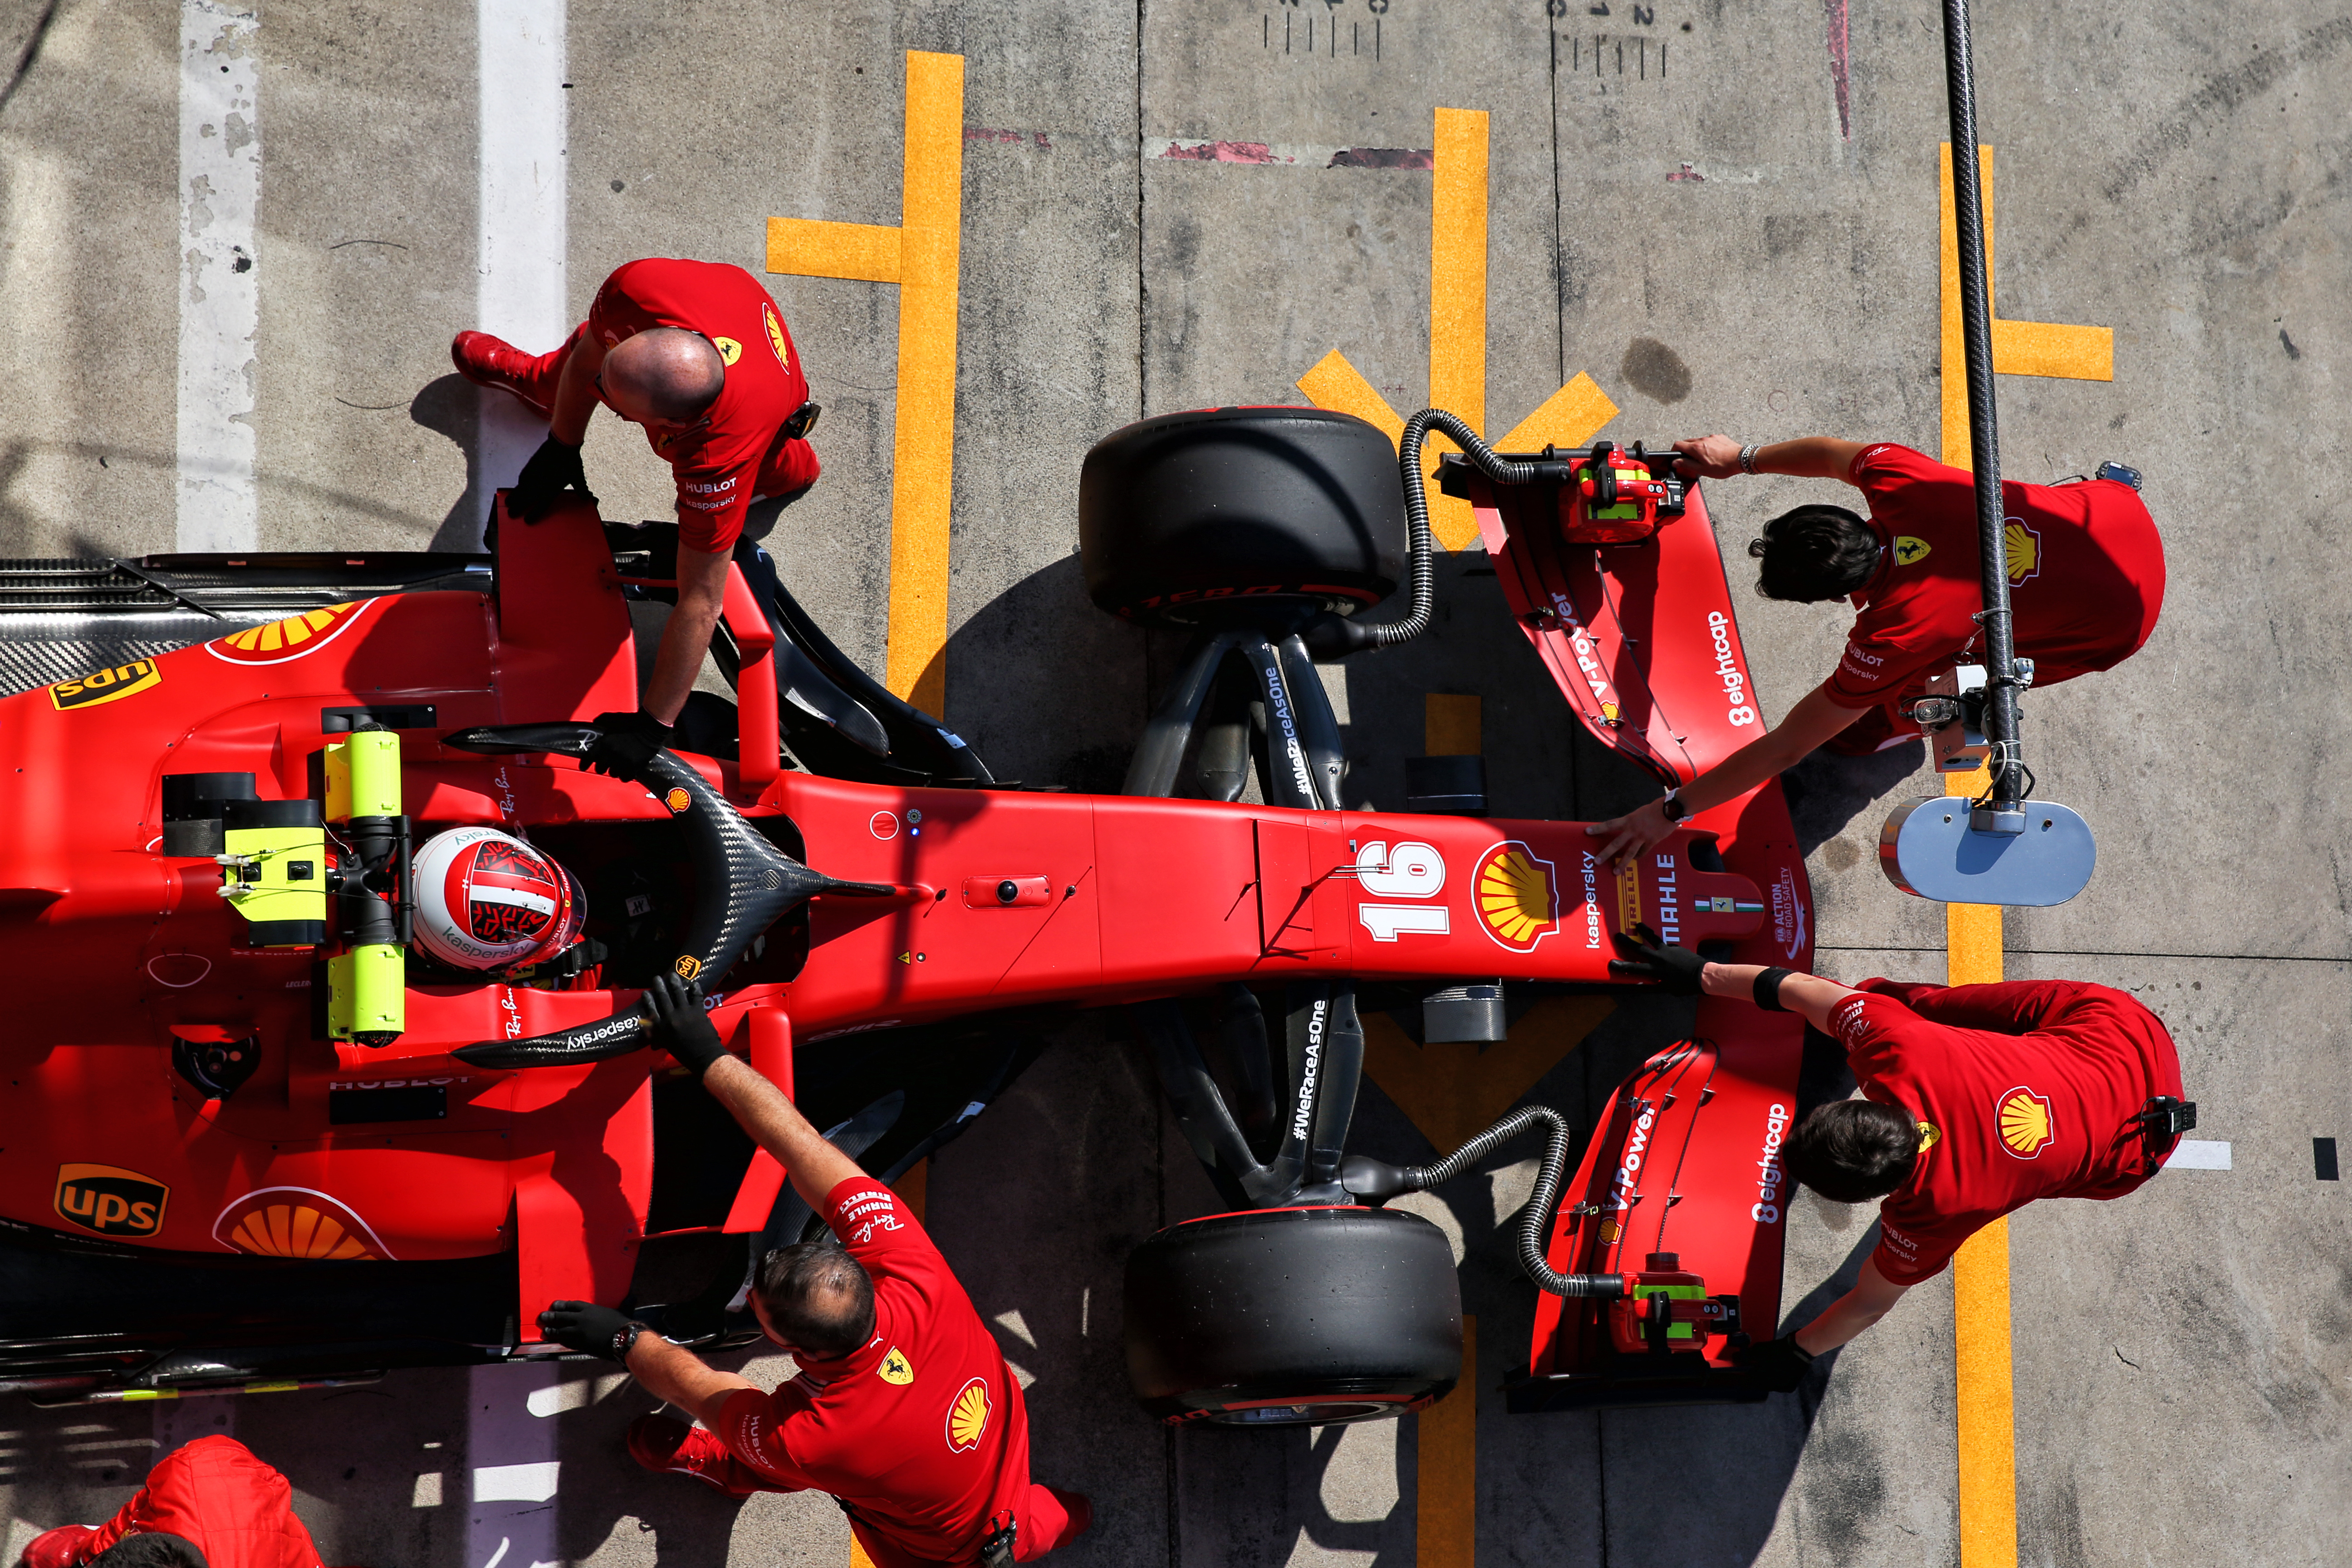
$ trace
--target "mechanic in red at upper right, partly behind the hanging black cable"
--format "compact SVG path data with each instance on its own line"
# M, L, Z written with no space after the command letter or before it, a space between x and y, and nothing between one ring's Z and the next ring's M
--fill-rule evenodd
M1818 604L1851 595L1860 614L1837 670L1780 726L1759 733L1665 799L1595 823L1604 860L1630 863L1693 811L1708 811L1802 762L1816 748L1860 757L1910 741L1926 679L1983 658L1976 480L1893 442L1806 437L1740 447L1729 435L1675 442L1684 475L1778 473L1844 480L1870 517L1799 505L1748 545L1766 599ZM2131 473L2131 470L2119 470ZM2164 607L2164 541L2138 475L2079 484L2002 484L2018 656L2034 686L2107 670L2140 651Z

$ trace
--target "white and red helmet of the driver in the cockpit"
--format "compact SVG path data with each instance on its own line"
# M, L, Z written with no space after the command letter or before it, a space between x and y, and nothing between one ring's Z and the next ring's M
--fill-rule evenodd
M435 832L414 865L416 943L452 969L529 969L581 936L572 872L496 827Z

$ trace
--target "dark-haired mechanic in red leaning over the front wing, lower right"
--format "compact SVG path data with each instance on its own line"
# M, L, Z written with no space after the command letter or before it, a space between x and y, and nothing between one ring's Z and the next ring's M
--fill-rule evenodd
M1780 1145L1788 1175L1832 1204L1879 1204L1860 1281L1804 1328L1740 1352L1773 1389L1877 1324L1959 1244L2034 1199L2117 1199L2154 1175L2194 1105L2164 1020L2082 980L1858 987L1757 964L1708 964L1618 936L1611 973L1672 994L1799 1013L1846 1046L1860 1100L1813 1107Z

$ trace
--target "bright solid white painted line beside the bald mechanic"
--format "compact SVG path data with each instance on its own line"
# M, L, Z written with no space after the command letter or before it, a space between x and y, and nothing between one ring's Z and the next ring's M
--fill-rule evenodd
M475 235L475 327L529 353L564 341L564 0L477 0L482 190ZM473 494L489 498L546 440L546 421L482 390Z

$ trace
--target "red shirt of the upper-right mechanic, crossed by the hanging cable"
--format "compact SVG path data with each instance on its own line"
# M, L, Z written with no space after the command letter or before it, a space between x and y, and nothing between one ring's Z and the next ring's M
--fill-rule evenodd
M1910 703L1978 639L1976 480L1891 442L1863 447L1851 477L1870 496L1870 531L1886 555L1853 595L1863 614L1830 698L1842 708ZM2138 654L2164 607L2164 541L2140 494L2114 480L2004 482L2002 510L2018 654L2034 661L2034 684Z

